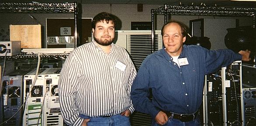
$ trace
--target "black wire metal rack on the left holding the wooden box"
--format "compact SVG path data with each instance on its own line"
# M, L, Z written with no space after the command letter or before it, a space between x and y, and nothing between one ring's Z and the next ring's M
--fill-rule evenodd
M0 13L74 13L75 34L78 25L77 3L0 3ZM75 47L78 45L78 36L75 35ZM68 54L45 54L42 58L63 59ZM2 59L3 57L0 57ZM8 56L7 60L34 59L37 55L21 53L15 56Z

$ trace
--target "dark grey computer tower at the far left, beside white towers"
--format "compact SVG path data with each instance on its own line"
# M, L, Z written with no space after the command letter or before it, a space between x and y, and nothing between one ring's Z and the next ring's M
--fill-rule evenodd
M5 122L4 126L21 126L22 124L23 76L29 71L16 70L3 76L3 95L1 99L3 106L0 106L3 110L3 115L0 116L3 118L3 122Z

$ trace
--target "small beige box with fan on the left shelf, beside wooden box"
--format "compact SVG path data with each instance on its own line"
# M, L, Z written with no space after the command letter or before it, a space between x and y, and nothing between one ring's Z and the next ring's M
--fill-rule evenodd
M0 41L0 56L13 56L21 53L21 41Z

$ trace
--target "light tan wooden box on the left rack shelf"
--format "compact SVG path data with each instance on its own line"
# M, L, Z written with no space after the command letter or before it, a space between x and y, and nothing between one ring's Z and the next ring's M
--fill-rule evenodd
M10 25L10 41L21 41L21 48L42 48L41 25Z

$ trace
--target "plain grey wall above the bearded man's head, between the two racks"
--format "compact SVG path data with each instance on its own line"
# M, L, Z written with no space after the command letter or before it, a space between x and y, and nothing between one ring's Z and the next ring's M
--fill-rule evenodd
M144 4L143 12L137 12L137 4L82 4L82 17L94 17L100 12L109 12L122 21L122 27L118 30L131 30L131 22L151 21L151 9L161 6ZM164 24L163 17L163 15L158 16L158 19L162 21L157 24L157 29L162 28Z

